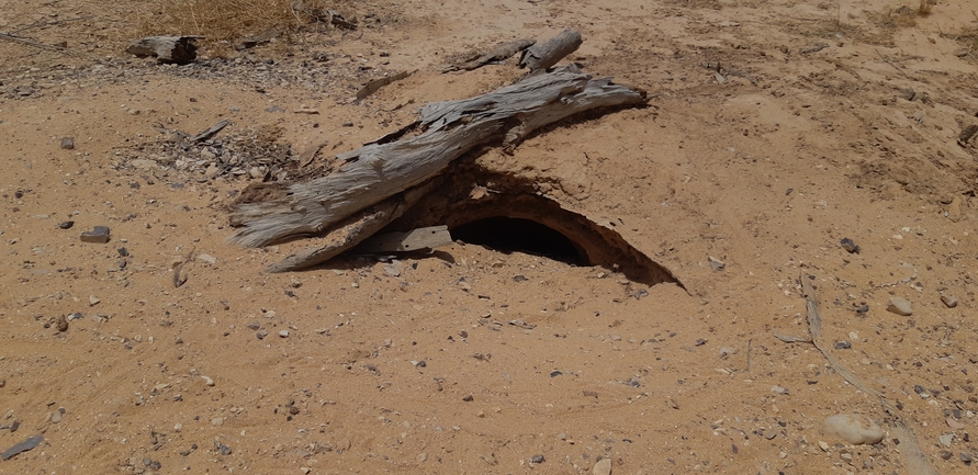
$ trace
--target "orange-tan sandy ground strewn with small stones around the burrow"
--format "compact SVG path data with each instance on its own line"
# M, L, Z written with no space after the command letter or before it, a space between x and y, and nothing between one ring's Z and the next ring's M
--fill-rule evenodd
M0 32L70 52L0 41L0 451L44 440L0 473L930 473L897 420L935 472L975 470L969 2L910 24L884 0L380 0L349 12L371 27L206 68L123 52L157 2L34 3L0 0ZM265 273L304 244L226 242L255 180L154 148L228 118L218 136L347 151L520 73L447 57L564 27L571 59L649 105L471 158L617 222L686 290L463 242L396 276ZM82 242L94 226L111 241ZM808 335L809 275L820 341L881 399L775 337ZM852 445L823 428L838 414L886 437Z

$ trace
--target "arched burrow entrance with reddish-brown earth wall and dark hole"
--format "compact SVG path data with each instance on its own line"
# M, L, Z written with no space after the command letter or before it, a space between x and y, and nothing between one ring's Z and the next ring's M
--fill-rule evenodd
M481 168L452 167L383 231L448 226L453 239L502 252L526 252L573 265L620 271L633 282L682 282L615 229L539 194L533 183Z

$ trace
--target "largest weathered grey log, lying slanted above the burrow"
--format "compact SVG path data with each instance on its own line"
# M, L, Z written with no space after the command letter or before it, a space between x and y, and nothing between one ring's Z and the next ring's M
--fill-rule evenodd
M409 138L385 137L342 154L339 171L305 183L249 186L232 208L231 241L265 246L328 230L347 216L440 173L473 147L504 138L514 147L536 128L603 106L641 104L644 94L610 79L561 69L477 98L427 104ZM395 135L396 137L396 135ZM369 236L363 236L363 238ZM362 240L362 239L361 239Z

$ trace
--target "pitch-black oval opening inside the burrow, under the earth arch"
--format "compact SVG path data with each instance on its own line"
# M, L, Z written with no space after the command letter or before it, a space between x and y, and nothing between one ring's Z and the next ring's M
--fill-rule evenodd
M505 253L525 252L572 265L591 265L587 255L570 238L530 219L492 216L449 230L457 240Z

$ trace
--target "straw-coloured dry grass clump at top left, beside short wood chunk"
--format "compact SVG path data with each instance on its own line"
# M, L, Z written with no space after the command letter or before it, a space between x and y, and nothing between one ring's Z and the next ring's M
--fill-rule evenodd
M161 0L159 9L139 19L139 34L201 35L207 42L234 43L269 29L293 32L321 19L317 12L338 10L342 1L326 0Z

